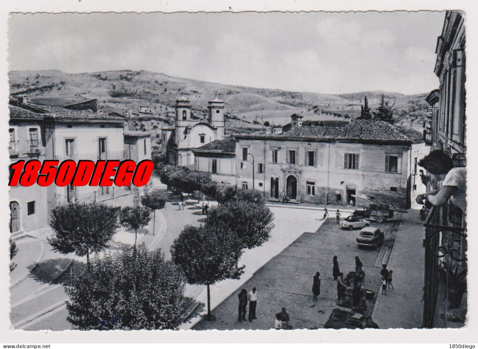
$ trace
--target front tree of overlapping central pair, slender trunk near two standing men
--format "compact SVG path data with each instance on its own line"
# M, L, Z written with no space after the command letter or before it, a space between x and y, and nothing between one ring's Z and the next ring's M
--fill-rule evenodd
M209 286L216 282L237 277L242 268L236 267L234 242L227 231L186 225L171 246L171 256L180 265L189 284L206 285L207 316L211 316L211 295Z

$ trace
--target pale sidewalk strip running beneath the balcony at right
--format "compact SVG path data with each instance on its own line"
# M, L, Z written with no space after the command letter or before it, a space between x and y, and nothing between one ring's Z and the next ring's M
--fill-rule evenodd
M393 251L387 265L393 270L393 289L379 296L373 309L373 321L380 328L420 328L423 317L425 230L418 210L402 215Z

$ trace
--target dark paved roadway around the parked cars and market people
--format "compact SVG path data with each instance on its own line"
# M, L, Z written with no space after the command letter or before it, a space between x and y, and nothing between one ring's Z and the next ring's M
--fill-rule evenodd
M303 210L300 210L303 211ZM392 237L393 223L375 224ZM271 329L275 313L285 307L294 328L322 328L332 309L337 308L337 282L332 276L332 258L338 256L340 270L346 275L355 270L355 256L359 256L366 273L365 288L375 292L380 287L380 265L384 258L382 249L359 249L355 239L358 230L340 229L335 219L329 219L317 231L304 233L282 253L260 268L231 296L218 305L213 315L215 321L199 321L193 329ZM385 247L383 247L383 251ZM312 282L315 272L320 272L321 293L312 301ZM238 322L238 293L257 287L257 320ZM371 313L372 309L368 309Z

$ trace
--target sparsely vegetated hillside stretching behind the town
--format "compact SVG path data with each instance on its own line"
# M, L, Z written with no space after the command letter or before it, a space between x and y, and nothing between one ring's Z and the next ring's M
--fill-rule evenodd
M228 117L226 132L263 129L290 122L293 113L304 120L346 120L360 115L360 104L367 96L372 111L382 94L394 101L399 124L421 129L425 120L426 94L402 95L382 91L327 95L311 92L221 85L186 78L177 78L148 71L106 71L68 74L56 70L11 71L11 96L23 96L33 103L63 106L88 99L98 99L98 108L117 112L142 122L143 128L153 129L172 123L174 101L187 96L193 105L193 115L205 118L207 102L217 95L225 101ZM140 114L139 106L150 106L152 114Z

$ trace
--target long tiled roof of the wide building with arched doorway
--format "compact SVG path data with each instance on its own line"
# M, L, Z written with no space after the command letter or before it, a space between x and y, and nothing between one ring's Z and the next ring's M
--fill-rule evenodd
M344 127L292 127L289 131L278 135L238 134L236 137L393 143L413 143L423 140L423 135L413 129L371 120L354 120Z

